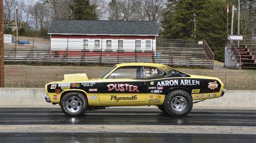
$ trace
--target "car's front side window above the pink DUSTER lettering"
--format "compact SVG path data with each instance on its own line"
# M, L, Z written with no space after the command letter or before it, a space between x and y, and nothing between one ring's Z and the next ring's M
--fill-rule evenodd
M115 70L107 78L120 79L120 78L144 78L143 67L121 67Z

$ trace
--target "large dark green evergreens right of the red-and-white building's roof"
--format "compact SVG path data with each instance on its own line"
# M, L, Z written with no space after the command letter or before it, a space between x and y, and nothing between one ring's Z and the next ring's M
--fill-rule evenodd
M215 59L224 61L226 5L220 0L169 0L161 22L164 28L161 35L171 39L204 39L212 48Z

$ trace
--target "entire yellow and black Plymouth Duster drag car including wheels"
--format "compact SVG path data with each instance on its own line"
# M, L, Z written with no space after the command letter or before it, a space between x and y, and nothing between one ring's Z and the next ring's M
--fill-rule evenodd
M71 117L86 110L107 106L157 105L173 117L190 113L193 101L224 95L224 84L217 77L183 73L157 63L121 63L99 78L67 74L63 81L45 85L46 102L59 104Z

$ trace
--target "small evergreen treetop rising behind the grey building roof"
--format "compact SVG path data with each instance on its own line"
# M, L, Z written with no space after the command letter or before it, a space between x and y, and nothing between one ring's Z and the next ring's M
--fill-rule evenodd
M76 20L98 20L98 13L95 4L89 0L74 0L72 5L74 19Z

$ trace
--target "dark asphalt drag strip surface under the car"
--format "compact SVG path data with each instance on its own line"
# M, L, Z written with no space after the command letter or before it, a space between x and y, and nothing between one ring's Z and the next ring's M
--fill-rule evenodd
M214 110L214 109L193 109L190 115L185 118L173 118L165 115L158 109L124 109L107 108L105 110L86 111L83 117L66 117L59 108L0 108L0 142L256 142L256 110ZM15 130L9 126L23 126L21 130ZM42 132L38 128L30 130L26 126L54 126L65 127L65 125L90 126L197 126L201 127L194 133L159 133L136 130L138 133L126 132L105 132L93 130L83 133L66 129L63 133L60 129L55 132ZM239 127L251 128L245 131L251 133L235 134L230 133L206 133L205 126L214 127ZM9 127L10 130L5 129ZM103 127L104 128L104 127ZM47 128L46 128L47 129ZM46 130L45 129L45 130ZM23 131L24 130L24 131ZM38 130L38 131L37 131ZM68 131L67 131L68 130ZM205 131L204 131L205 130ZM37 132L32 132L37 131ZM47 130L46 130L47 131ZM98 131L98 132L97 132ZM111 130L110 130L111 131Z

